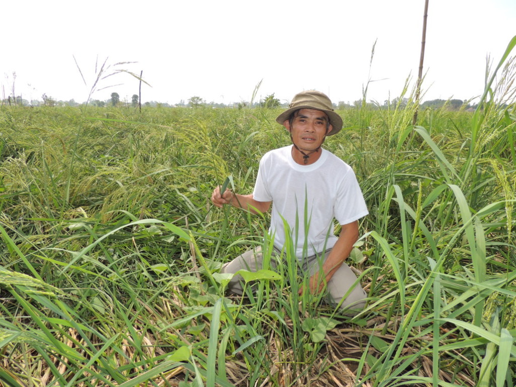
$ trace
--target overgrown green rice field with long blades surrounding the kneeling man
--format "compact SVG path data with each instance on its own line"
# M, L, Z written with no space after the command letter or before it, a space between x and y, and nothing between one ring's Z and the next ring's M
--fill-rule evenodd
M0 385L513 386L514 63L475 112L340 111L325 147L370 212L353 318L297 295L288 249L244 297L218 273L272 259L268 215L209 197L251 192L281 110L3 106Z

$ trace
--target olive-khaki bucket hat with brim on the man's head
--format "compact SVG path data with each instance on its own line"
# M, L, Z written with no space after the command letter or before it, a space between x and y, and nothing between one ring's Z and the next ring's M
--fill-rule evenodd
M333 111L333 105L331 104L328 96L325 93L321 93L317 90L307 90L297 93L294 96L288 109L282 112L278 118L276 118L276 122L283 125L283 122L288 120L290 115L299 109L315 109L324 111L328 116L330 124L333 126L332 130L327 134L327 136L334 135L335 133L340 132L342 129L341 116Z

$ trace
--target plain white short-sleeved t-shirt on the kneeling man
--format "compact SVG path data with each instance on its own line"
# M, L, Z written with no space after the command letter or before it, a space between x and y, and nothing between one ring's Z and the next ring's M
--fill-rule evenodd
M275 246L281 250L285 245L284 219L296 245L296 256L302 258L335 245L333 218L339 224L347 224L368 211L349 165L322 148L317 162L299 165L292 158L292 147L275 149L262 157L253 198L272 201L269 233L275 238ZM305 241L307 249L303 254Z

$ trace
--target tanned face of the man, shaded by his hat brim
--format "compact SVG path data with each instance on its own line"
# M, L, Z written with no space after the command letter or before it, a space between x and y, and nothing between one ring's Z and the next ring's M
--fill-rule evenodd
M328 116L324 111L315 109L298 110L291 123L286 120L283 125L292 134L296 146L302 151L309 152L317 149L324 141L327 131L332 130L328 126Z

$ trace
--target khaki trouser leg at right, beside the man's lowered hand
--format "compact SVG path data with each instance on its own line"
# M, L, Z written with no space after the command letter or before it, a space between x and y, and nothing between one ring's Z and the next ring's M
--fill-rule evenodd
M330 252L331 249L325 252L325 260L328 258ZM309 257L308 262L310 262L310 275L313 275L316 271L320 270L322 262L324 261L320 262L320 260L316 259L314 256ZM340 303L356 280L357 276L354 275L351 268L344 262L341 267L335 271L330 281L328 281L327 291L330 302L334 305ZM357 283L342 302L340 309L346 310L346 314L355 315L364 309L366 297L367 294L364 289L360 283Z

